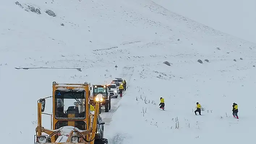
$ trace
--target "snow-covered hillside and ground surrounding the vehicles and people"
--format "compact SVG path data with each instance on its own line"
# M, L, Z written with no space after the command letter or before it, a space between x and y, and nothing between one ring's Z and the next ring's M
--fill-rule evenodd
M36 102L52 95L52 81L99 84L115 77L128 88L101 114L110 144L254 140L255 44L149 0L4 1L0 13L3 143L13 136L33 143ZM166 111L159 109L160 97ZM202 116L193 112L196 102L205 108ZM231 116L233 102L239 119ZM47 100L45 111L51 110ZM47 115L43 126L50 128Z

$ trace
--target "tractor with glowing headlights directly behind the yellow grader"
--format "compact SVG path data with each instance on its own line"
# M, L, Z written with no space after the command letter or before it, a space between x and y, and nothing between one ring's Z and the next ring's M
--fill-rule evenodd
M108 95L109 88L106 84L93 85L93 95L90 99L90 104L95 105L99 102L99 114L101 114L101 108L105 107L105 112L109 112L111 109L111 97Z

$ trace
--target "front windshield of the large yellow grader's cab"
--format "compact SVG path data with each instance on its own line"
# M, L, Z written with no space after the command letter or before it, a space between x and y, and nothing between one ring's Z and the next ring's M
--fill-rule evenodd
M56 119L85 119L85 91L56 90Z

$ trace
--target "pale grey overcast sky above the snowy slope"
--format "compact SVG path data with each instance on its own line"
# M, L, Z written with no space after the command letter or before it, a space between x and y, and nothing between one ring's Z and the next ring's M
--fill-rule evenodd
M251 42L255 35L255 0L152 0L216 30Z

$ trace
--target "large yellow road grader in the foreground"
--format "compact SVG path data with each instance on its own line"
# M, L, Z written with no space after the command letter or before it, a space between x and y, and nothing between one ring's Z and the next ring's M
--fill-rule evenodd
M52 114L43 113L45 101L52 97ZM34 144L108 144L97 136L97 125L104 125L99 115L99 102L90 113L90 84L52 83L52 96L38 100L38 126ZM42 127L42 114L52 115L51 129ZM103 128L104 130L104 128ZM47 135L43 135L46 133Z

